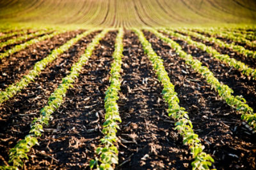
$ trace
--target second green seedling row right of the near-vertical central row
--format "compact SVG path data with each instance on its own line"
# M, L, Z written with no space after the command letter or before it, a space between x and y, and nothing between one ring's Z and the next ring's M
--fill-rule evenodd
M202 66L202 62L193 59L192 55L188 55L186 52L184 52L178 43L170 38L167 38L160 32L153 29L151 31L156 34L157 37L168 43L176 51L176 53L179 53L179 56L186 60L186 64L191 66L196 72L202 74L207 83L211 85L212 89L216 90L220 97L226 101L229 106L236 108L236 110L242 114L241 119L248 122L248 124L254 130L256 130L256 113L253 113L253 109L246 104L246 100L243 97L233 96L232 94L234 91L230 89L230 87L221 84L220 81L214 77L214 74L208 69L208 67Z

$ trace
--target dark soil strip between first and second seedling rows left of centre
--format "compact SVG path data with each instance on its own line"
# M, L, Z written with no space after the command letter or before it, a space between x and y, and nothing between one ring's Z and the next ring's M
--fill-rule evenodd
M29 124L39 111L47 104L51 92L58 87L74 62L84 53L86 45L92 41L96 32L82 38L76 45L63 53L45 68L28 87L17 96L0 106L0 155L8 160L8 151L17 140L29 132Z

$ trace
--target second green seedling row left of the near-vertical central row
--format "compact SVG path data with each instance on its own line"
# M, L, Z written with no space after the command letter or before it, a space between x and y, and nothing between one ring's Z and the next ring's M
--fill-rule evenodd
M15 96L15 94L20 92L20 90L27 87L31 81L35 80L36 76L40 75L42 70L44 70L49 63L57 59L61 55L61 53L67 51L68 48L70 48L72 45L77 43L79 39L83 38L84 36L87 36L93 31L94 30L92 29L92 30L83 32L83 34L79 34L78 36L76 36L76 38L70 39L64 45L61 45L59 48L52 50L52 52L44 59L36 62L33 69L31 69L28 74L23 76L20 81L18 81L17 83L13 83L12 85L9 85L3 91L0 91L0 104L4 103L4 101L7 101L11 97Z

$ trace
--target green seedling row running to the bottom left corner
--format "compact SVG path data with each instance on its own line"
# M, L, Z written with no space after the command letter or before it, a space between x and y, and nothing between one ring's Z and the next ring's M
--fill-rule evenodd
M28 159L27 153L30 149L34 145L39 145L36 138L42 135L42 132L44 132L43 127L49 124L49 120L52 118L52 113L58 110L61 106L67 90L72 87L72 84L79 76L79 72L83 69L84 64L86 64L86 61L92 55L95 46L99 45L100 39L104 38L108 31L109 29L104 29L104 31L100 32L92 40L92 43L88 45L80 59L72 65L70 73L62 79L58 88L54 90L49 97L47 105L40 110L40 116L38 118L34 118L31 123L31 130L29 131L29 134L10 150L9 163L12 163L12 166L2 167L3 169L22 167L24 164L23 159Z

